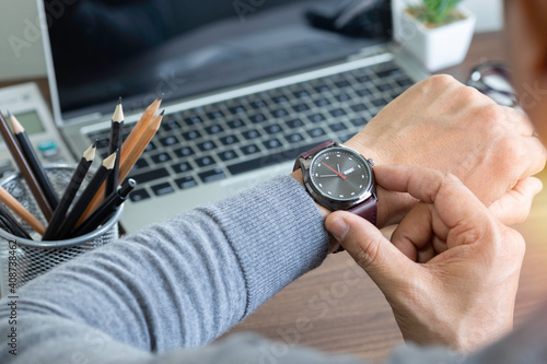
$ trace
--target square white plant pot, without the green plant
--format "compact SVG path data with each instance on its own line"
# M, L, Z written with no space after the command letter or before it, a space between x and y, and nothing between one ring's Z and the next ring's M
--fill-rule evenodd
M457 10L465 19L429 28L406 10L399 14L397 40L430 72L461 63L473 39L475 15L463 7Z

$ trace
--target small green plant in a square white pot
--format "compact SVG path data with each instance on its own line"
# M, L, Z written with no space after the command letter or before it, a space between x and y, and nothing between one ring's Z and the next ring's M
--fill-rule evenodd
M395 38L431 72L461 63L473 38L475 15L462 0L394 4Z

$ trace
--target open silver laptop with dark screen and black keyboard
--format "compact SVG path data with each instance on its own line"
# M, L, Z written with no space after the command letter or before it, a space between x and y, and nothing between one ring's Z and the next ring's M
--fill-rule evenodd
M163 94L162 127L129 175L127 232L289 174L428 75L380 24L389 1L37 3L54 118L74 158L94 139L106 156L118 96L127 137Z

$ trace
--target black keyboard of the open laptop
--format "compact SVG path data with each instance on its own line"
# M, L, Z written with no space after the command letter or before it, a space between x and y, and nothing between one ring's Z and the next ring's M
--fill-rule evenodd
M133 202L347 141L414 82L392 61L166 115L131 169ZM126 128L124 138L129 134ZM108 152L108 130L91 132Z

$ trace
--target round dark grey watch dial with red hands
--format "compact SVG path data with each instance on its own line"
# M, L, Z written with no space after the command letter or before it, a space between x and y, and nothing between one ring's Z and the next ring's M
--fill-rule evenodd
M315 189L326 198L354 200L369 189L371 169L357 152L330 148L314 157L310 177Z

